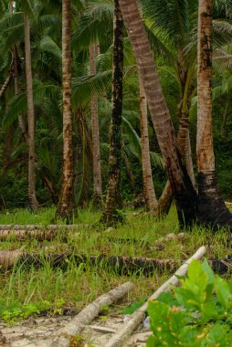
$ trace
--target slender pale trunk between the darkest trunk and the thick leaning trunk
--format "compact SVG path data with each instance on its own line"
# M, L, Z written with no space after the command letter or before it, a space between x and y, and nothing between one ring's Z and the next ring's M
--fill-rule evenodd
M140 121L141 121L141 149L142 149L142 182L145 205L150 212L157 207L157 199L153 188L153 172L150 157L147 101L142 80L140 79Z

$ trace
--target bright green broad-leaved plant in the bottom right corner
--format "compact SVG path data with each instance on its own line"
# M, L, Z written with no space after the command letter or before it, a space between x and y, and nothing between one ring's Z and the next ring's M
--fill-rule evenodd
M227 347L232 342L232 279L215 276L206 259L194 260L182 286L150 301L153 336L147 347Z

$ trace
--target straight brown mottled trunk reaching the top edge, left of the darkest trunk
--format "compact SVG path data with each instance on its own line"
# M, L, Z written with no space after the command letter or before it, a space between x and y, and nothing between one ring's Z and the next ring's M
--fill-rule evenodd
M63 180L57 215L71 223L75 213L71 110L71 0L62 1Z

